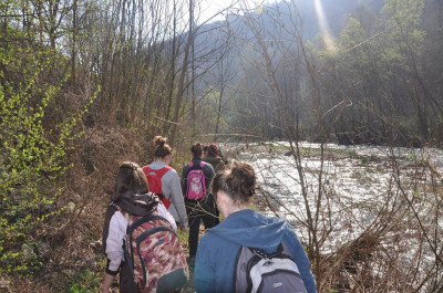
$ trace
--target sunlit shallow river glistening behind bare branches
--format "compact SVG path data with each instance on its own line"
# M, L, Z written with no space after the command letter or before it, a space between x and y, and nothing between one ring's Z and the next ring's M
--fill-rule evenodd
M256 205L285 217L303 243L309 241L309 210L322 255L336 255L371 232L377 233L374 250L406 260L401 269L404 275L419 268L411 287L441 268L433 251L441 254L443 248L442 149L328 144L321 156L319 144L300 143L305 198L296 159L286 154L288 143L225 148L254 165L261 190ZM383 270L392 265L377 262ZM430 286L426 283L423 289Z

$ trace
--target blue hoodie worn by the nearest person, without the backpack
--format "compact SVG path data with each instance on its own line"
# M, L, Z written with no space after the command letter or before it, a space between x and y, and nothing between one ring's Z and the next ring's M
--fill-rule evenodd
M229 214L202 238L194 271L196 292L233 292L234 265L240 245L271 253L281 241L289 248L308 293L317 292L309 260L292 228L284 219L249 209Z

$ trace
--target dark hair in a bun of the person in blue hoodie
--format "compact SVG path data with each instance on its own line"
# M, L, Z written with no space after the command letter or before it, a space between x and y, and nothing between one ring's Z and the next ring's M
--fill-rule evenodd
M249 202L256 193L256 172L246 161L234 161L227 169L217 172L212 185L213 195L218 190L227 193L235 202Z

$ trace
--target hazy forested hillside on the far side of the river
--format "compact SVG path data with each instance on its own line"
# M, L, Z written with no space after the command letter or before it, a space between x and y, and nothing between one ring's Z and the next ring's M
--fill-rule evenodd
M442 3L321 1L323 13L317 14L315 2L229 15L210 34L227 43L216 65L225 82L209 75L199 85L204 92L214 84L220 101L239 105L228 128L285 137L289 123L301 137L319 140L320 115L332 142L440 144Z

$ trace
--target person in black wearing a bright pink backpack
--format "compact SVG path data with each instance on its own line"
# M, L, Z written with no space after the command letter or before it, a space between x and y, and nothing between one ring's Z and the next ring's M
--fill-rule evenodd
M183 167L182 190L189 222L188 261L193 263L197 252L200 220L205 229L214 227L214 199L207 197L207 188L215 171L210 164L202 160L203 145L200 143L193 145L190 151L193 160Z

